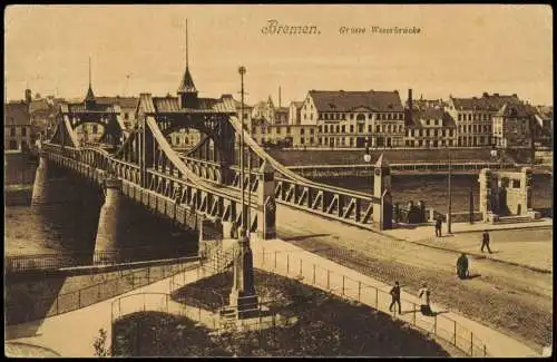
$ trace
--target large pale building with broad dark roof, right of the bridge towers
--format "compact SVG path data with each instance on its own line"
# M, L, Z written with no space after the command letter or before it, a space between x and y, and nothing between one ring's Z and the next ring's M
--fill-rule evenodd
M404 145L404 109L397 90L311 90L301 124L317 125L317 144L324 147Z

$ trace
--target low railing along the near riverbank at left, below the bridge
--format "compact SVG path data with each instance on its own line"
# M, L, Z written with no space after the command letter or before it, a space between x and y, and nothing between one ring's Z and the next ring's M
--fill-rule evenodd
M77 266L106 266L160 258L195 256L195 252L182 248L129 247L109 252L62 252L57 254L7 255L4 273L17 274L37 271L55 271Z

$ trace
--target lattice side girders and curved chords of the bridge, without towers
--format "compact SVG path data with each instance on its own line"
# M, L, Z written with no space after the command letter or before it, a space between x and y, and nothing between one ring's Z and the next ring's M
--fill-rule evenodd
M245 130L242 130L235 117L231 117L227 124L236 134L244 131L246 150L254 160L253 165L267 164L275 170L277 203L349 224L369 227L372 221L373 204L380 202L379 197L315 183L299 176L266 154ZM214 139L222 140L219 137L223 136L227 137L227 145L218 145L217 141L214 141ZM52 151L61 153L66 164L69 164L68 159L75 159L81 169L94 168L104 177L113 174L121 178L128 196L150 208L158 208L159 212L168 216L172 214L172 217L180 218L187 214L187 209L222 221L235 221L240 225L242 217L240 212L240 169L229 163L234 157L225 159L234 174L229 184L222 182L223 175L219 173L224 169L223 162L194 157L207 156L202 150L207 149L206 145L211 139L214 144L213 149L219 147L221 156L231 148L231 145L234 147L234 137L231 137L229 130L227 134L221 133L219 135L218 129L215 128L213 137L209 135L202 137L198 147L187 155L178 155L168 144L158 125L158 119L147 116L143 127L133 131L114 155L99 149L79 148L75 145L70 146L66 153L55 149L56 147L52 148ZM211 159L211 156L208 158ZM207 164L212 167L207 167ZM258 188L258 173L256 169L252 169L252 173L245 177L244 185L250 185L252 190L252 208L256 208L257 197L254 193ZM174 206L170 207L170 204ZM252 213L255 215L252 219L252 229L257 225L256 214Z

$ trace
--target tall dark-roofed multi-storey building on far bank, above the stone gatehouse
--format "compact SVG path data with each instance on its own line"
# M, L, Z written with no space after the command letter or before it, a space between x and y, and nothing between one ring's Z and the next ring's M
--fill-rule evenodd
M514 105L520 100L517 95L500 96L499 94L481 97L449 97L446 110L457 123L458 146L480 147L492 144L492 118L505 104Z

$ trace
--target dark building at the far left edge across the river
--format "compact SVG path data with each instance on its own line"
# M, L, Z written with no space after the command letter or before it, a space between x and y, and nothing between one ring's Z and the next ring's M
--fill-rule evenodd
M4 105L3 147L22 150L31 146L31 117L27 101Z

